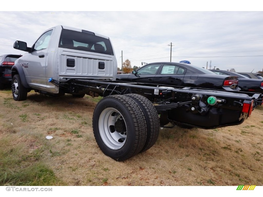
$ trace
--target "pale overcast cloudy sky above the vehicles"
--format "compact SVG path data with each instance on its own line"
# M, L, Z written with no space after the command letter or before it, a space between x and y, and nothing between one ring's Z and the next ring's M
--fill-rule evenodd
M59 10L59 9L58 9ZM24 54L16 40L32 46L45 30L66 25L108 36L118 67L189 60L208 69L239 72L263 69L263 12L221 11L0 11L0 54ZM4 20L3 20L4 19Z

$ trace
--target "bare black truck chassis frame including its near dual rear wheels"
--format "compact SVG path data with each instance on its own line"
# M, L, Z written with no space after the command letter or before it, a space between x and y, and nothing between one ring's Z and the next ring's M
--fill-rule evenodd
M239 125L262 105L262 95L107 80L49 82L65 93L100 95L93 132L104 154L123 161L151 148L159 127L213 129ZM166 126L172 123L174 126Z

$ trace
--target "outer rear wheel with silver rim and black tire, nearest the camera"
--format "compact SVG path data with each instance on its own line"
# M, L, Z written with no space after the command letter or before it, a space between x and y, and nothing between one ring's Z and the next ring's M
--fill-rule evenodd
M146 121L140 106L130 97L107 96L95 107L93 132L105 155L123 161L144 147Z

